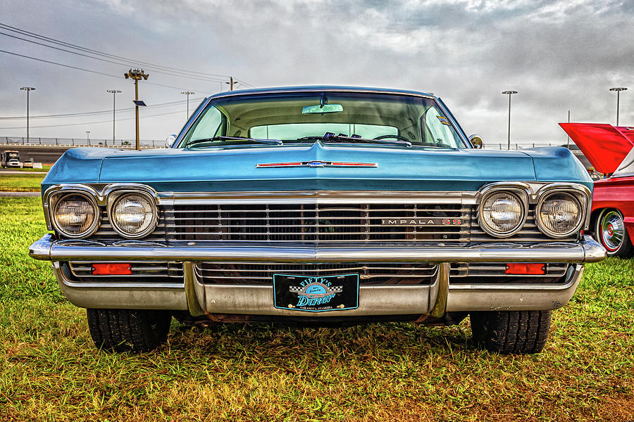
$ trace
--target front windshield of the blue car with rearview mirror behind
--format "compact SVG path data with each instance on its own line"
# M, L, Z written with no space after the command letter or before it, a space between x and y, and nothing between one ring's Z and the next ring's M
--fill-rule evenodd
M183 136L180 148L317 138L466 148L431 98L328 91L216 98Z

